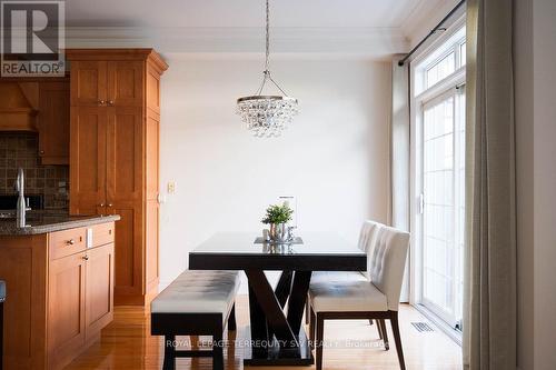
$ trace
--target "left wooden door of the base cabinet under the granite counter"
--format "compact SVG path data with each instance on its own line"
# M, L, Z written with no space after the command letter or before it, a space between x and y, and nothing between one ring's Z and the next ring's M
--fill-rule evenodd
M54 260L49 268L49 363L62 364L85 344L85 253Z

